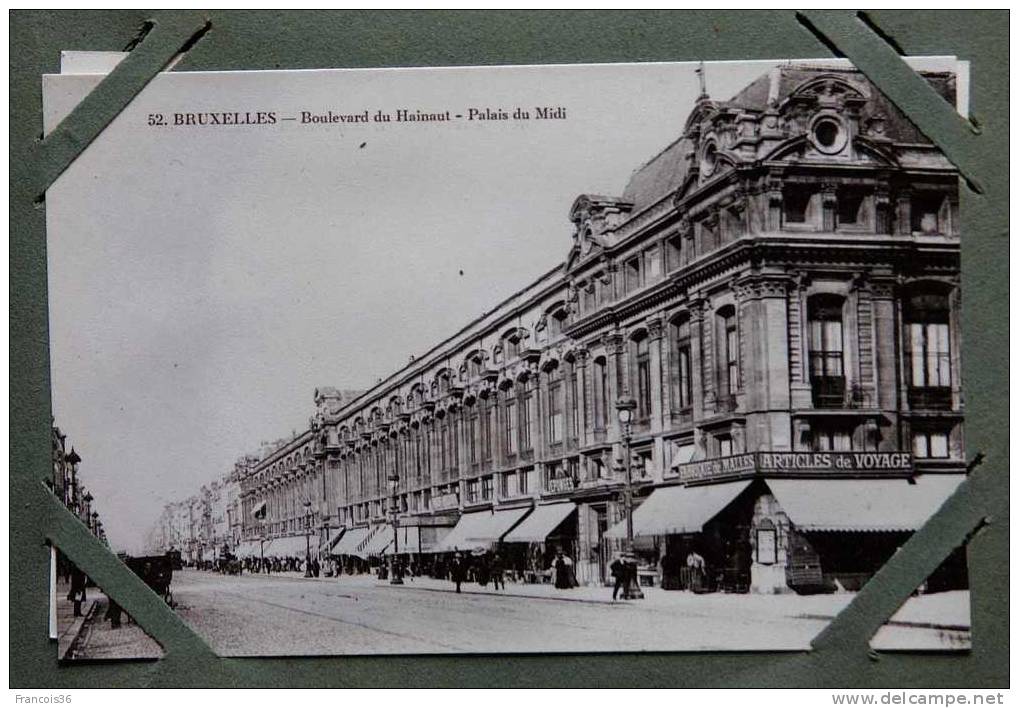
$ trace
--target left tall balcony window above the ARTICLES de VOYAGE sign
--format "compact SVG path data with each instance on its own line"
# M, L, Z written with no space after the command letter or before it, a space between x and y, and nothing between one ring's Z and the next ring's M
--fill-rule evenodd
M810 384L814 407L838 409L845 404L843 305L843 298L838 295L814 295L808 302Z

